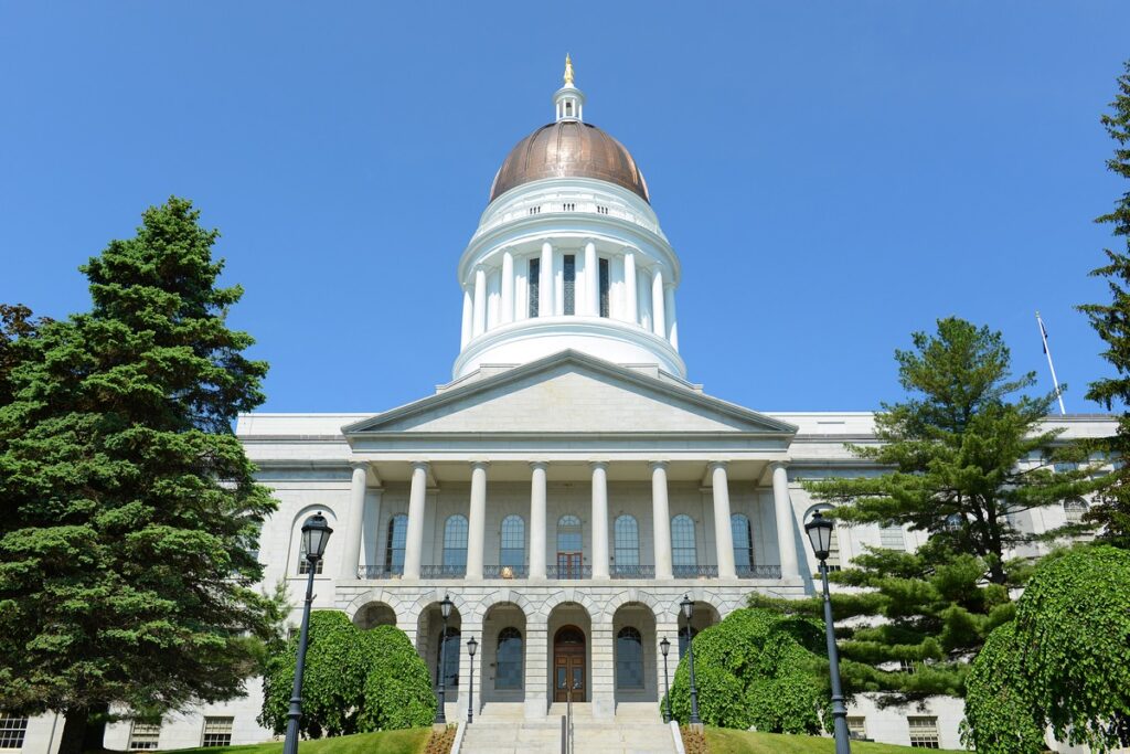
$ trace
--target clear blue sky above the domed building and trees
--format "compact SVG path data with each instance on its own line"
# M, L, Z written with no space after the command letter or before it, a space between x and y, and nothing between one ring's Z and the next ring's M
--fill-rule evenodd
M1072 411L1109 373L1075 312L1128 187L1098 116L1125 2L0 5L0 301L191 198L246 288L264 410L377 411L450 379L455 263L573 54L683 260L689 378L760 410L901 396L956 314Z

